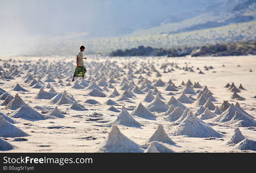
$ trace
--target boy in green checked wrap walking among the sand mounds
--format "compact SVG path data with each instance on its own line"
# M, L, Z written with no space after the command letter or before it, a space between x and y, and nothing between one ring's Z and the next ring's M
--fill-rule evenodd
M80 46L80 51L76 55L76 57L77 57L77 67L75 69L72 82L74 81L74 78L76 76L77 77L83 77L84 74L86 73L86 68L83 66L83 59L86 59L86 58L83 58L84 49L85 49L84 46Z

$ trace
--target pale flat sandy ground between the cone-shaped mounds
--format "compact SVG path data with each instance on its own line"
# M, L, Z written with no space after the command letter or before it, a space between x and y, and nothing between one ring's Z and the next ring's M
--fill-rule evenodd
M49 61L53 60L62 60L62 61L74 61L74 58L71 57L1 57L2 60L8 59L15 60L31 60L36 63L39 59ZM241 93L238 93L241 97L246 98L245 101L238 101L241 107L246 110L250 115L256 117L256 99L253 98L256 95L256 56L230 56L230 57L198 57L198 58L166 58L166 57L127 57L127 58L117 58L117 57L95 57L88 56L86 62L90 61L117 61L120 67L128 62L136 61L137 68L141 62L153 62L156 69L162 74L160 77L164 82L168 82L169 79L172 79L173 83L176 86L180 85L182 81L185 83L188 79L191 82L199 82L200 85L207 85L208 89L214 93L214 97L216 97L216 102L213 102L215 105L220 106L223 100L228 100L230 103L236 102L236 100L230 99L232 92L228 91L224 86L227 83L232 83L239 87L241 83L246 90L243 90ZM85 62L84 61L84 62ZM180 67L185 67L185 62L189 67L194 66L194 70L196 67L202 69L205 74L198 74L198 70L195 72L188 72L182 69L175 69L172 73L163 73L163 69L160 69L161 64L164 62L174 62L177 63ZM13 63L9 62L10 65L19 65L18 62ZM121 63L124 63L123 65ZM3 64L3 61L0 61L0 65ZM23 64L23 63L21 63ZM225 67L222 65L225 64ZM237 67L237 65L241 67ZM214 69L210 69L209 71L205 71L203 67L212 66ZM86 63L85 63L86 66ZM252 69L253 72L249 72L249 69ZM87 68L87 70L92 70ZM127 69L124 69L127 72ZM134 70L135 71L135 70ZM213 73L215 71L216 73ZM25 74L27 72L24 72ZM134 74L134 76L138 77L140 74ZM86 74L86 77L89 75ZM153 72L152 76L148 77L145 74L142 74L143 77L147 77L150 81L153 79L158 79L159 77L155 76ZM108 76L106 76L108 77ZM64 80L63 80L64 81ZM134 83L137 84L138 79L134 79ZM33 89L25 85L23 83L23 79L21 77L16 78L15 80L4 81L0 80L0 87L12 94L13 96L17 93L16 91L12 91L11 89L15 86L16 83L19 83L22 87L29 90L29 92L19 92L19 96L27 103L29 106L40 106L45 108L46 110L52 110L56 105L49 104L49 100L45 99L34 99L33 97L39 92L39 89ZM65 82L67 83L67 82ZM47 84L47 83L46 83ZM100 142L104 140L108 132L110 131L109 127L99 127L95 125L102 124L100 122L89 121L88 118L90 114L96 112L101 113L104 116L100 117L104 120L102 121L110 121L116 118L118 113L106 111L110 106L104 105L103 103L108 100L116 100L116 98L109 98L108 96L113 92L113 89L109 89L109 92L104 91L107 97L92 97L87 94L89 91L73 89L70 86L61 86L58 84L51 83L54 86L54 89L61 93L66 90L68 93L72 94L74 98L79 101L80 104L88 108L88 111L76 111L76 110L67 110L68 105L60 105L58 106L59 110L67 113L65 118L61 119L53 119L53 120L40 120L40 121L28 121L23 120L21 118L17 118L15 120L21 122L19 124L15 124L20 129L28 133L30 136L23 137L27 139L26 141L13 141L13 138L7 138L8 142L17 148L5 151L5 152L91 152L93 149L99 145ZM120 90L120 84L113 84L118 92L121 94L123 91ZM140 85L139 85L140 86ZM160 92L162 92L162 96L166 99L167 102L171 96L166 95L169 91L165 91L163 87L157 87ZM45 89L48 91L49 89ZM180 93L181 90L173 93ZM180 94L175 95L177 99ZM126 108L130 108L128 110L131 113L132 108L136 107L138 103L142 102L145 106L148 104L143 101L146 94L136 94L135 99L131 99L135 102L127 103L125 101L119 102L120 105L124 105ZM99 101L101 104L90 105L84 103L86 99L95 99ZM184 104L187 107L191 108L195 111L198 107L193 106L192 104ZM0 106L3 108L4 106ZM116 108L121 108L121 106L115 106ZM8 114L13 112L13 110L0 110L4 114ZM41 112L38 110L38 112ZM133 140L134 142L140 144L146 138L148 138L152 133L154 133L158 124L163 124L164 129L167 134L169 134L170 138L176 143L176 146L169 146L176 152L240 152L238 150L233 150L232 147L224 146L225 141L229 140L230 137L234 133L234 129L232 127L224 127L224 126L212 126L212 128L224 136L222 138L215 138L212 140L205 140L205 138L188 138L186 136L173 136L171 135L171 130L175 128L175 126L170 125L169 122L163 120L163 116L160 116L162 113L156 113L159 115L157 120L146 120L140 117L135 117L135 120L143 124L141 129L119 126L120 131L126 135L128 138ZM51 123L50 123L51 122ZM53 123L54 122L54 123ZM27 123L27 125L24 125ZM62 126L63 128L59 129L49 129L48 127L52 126ZM256 140L256 131L249 130L245 127L239 128L242 134L249 138ZM251 150L242 151L242 152L253 152Z

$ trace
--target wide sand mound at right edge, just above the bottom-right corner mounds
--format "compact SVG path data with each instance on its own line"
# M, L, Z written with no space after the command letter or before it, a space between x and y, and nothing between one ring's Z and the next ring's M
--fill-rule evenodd
M223 125L232 127L256 127L256 121L236 111L234 117Z

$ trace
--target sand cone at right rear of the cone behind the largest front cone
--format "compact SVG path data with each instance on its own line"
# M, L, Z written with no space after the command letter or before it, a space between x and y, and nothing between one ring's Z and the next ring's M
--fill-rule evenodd
M138 106L132 111L131 115L149 119L149 120L155 120L157 117L152 112L147 110L147 108L145 108L141 103L139 103Z

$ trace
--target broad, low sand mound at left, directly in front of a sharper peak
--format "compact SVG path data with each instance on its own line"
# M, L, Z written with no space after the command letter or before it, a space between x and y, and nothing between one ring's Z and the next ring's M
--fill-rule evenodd
M25 120L45 120L47 119L44 115L38 113L35 109L30 106L21 106L9 115L12 118L23 118Z

